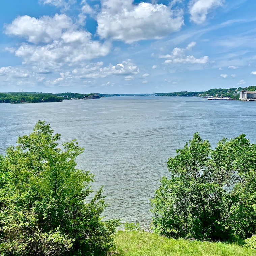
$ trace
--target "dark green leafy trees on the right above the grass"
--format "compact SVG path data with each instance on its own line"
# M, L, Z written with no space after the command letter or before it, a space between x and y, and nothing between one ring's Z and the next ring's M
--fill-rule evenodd
M241 240L256 231L256 145L244 134L214 150L198 133L169 158L151 200L155 232L168 237Z

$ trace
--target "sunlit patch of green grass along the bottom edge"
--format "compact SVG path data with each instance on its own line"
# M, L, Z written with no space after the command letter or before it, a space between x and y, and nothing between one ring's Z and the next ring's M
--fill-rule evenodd
M256 256L256 250L237 244L172 239L138 231L118 231L115 243L116 249L112 255L118 256Z

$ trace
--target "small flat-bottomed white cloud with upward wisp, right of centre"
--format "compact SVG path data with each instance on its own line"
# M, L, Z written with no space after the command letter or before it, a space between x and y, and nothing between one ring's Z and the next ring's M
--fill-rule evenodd
M201 58L196 58L193 55L186 56L186 51L190 50L195 46L195 42L191 42L186 49L175 47L171 54L160 55L159 58L167 59L164 61L165 64L168 63L191 63L191 64L205 64L209 61L208 56L203 56Z

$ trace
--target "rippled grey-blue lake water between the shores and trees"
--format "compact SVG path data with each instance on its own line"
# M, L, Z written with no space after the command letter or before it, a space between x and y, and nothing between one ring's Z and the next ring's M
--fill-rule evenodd
M176 149L199 132L212 147L245 133L256 142L256 102L193 97L106 97L61 103L0 104L0 154L38 119L50 122L61 141L77 139L85 151L78 167L104 185L107 218L150 219L149 198Z

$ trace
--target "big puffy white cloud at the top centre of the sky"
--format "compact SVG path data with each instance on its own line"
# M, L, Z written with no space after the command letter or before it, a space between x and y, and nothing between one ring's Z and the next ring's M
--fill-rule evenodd
M180 30L183 13L164 4L140 2L135 5L133 0L103 0L97 23L101 38L131 44L144 39L159 39Z

